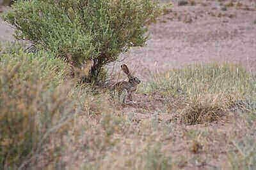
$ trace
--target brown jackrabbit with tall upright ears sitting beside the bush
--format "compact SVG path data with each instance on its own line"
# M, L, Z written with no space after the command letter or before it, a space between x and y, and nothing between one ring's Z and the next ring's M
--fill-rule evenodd
M124 104L128 104L127 97L129 98L131 103L134 103L132 101L132 92L134 92L137 89L137 87L141 83L141 81L138 77L131 76L129 69L125 64L121 65L121 69L127 75L129 80L128 81L120 81L120 82L116 83L113 88L114 88L114 90L116 90L118 92L118 97L120 97L122 92L125 92L125 96L124 96L124 100L123 100Z

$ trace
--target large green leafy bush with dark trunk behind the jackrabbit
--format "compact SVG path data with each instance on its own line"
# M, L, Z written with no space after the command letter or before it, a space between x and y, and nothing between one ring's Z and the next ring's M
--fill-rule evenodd
M74 66L92 60L90 80L120 53L145 45L147 25L163 11L151 0L20 0L12 7L4 19L15 27L15 38Z

